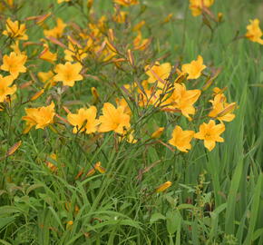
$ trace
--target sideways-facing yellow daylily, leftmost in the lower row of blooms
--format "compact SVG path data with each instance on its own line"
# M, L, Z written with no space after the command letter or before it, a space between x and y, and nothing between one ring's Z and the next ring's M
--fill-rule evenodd
M22 117L27 126L24 133L29 132L33 126L35 126L35 129L44 129L54 122L54 103L37 108L26 108L25 113L26 115Z

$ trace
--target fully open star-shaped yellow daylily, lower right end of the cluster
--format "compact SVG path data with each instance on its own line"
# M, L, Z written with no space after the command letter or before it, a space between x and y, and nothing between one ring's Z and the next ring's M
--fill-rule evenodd
M200 125L200 132L195 133L194 137L203 140L205 147L210 152L216 146L216 142L224 142L224 139L219 136L224 131L223 123L216 124L214 120L210 120L209 123L203 122Z

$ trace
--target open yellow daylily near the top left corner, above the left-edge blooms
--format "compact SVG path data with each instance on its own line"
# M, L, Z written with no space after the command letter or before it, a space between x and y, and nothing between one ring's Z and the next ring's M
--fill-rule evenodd
M25 25L20 24L18 21L13 22L10 18L6 20L6 30L3 34L10 36L14 39L27 40L28 36L25 34Z

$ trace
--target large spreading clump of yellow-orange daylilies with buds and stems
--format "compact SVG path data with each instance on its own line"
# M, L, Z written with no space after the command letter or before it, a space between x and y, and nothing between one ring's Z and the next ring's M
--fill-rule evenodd
M2 16L1 31L6 45L0 61L3 120L9 119L6 125L24 121L21 132L32 132L32 139L43 133L44 139L54 139L56 149L68 144L71 150L76 144L87 160L98 158L91 168L76 164L76 169L67 170L77 176L74 180L90 178L96 171L106 173L101 152L108 161L111 151L122 157L122 151L138 148L145 165L155 161L154 153L147 159L154 151L167 150L177 158L201 145L202 151L210 152L216 142L224 142L224 123L235 119L237 103L229 102L227 88L215 87L223 67L216 67L201 49L194 49L200 54L192 60L185 47L177 53L180 39L172 44L174 52L167 52L167 42L162 40L166 37L159 40L155 31L157 23L143 17L150 2L112 0L112 11L101 14L93 0L56 0L39 15L17 19L13 14L22 6L20 1L0 4L1 11L10 12ZM223 16L211 12L214 2L189 2L191 14L202 15L213 34L217 28L211 20L218 26ZM85 19L62 18L60 11L52 11L54 6L65 13L81 10L77 17ZM133 12L138 14L136 19ZM175 19L170 13L158 23L165 26ZM241 37L261 44L259 20L251 20L247 29ZM44 160L45 166L60 175L59 158L51 159L54 162ZM165 191L170 185L166 181L155 191Z

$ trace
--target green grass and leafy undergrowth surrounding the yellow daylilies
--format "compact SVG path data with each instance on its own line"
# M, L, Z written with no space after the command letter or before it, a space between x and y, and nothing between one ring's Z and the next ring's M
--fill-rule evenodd
M47 9L52 1L20 2L25 6L17 16L23 19L40 14L42 6ZM0 244L263 244L263 50L262 45L247 39L234 40L238 32L238 36L246 33L249 19L261 17L262 27L262 3L216 1L211 10L222 12L224 22L219 26L211 23L211 32L202 24L201 16L190 15L188 1L144 2L145 13L134 22L147 22L143 34L153 37L152 50L145 57L134 54L135 61L142 71L145 61L153 57L168 53L165 61L175 64L188 63L201 54L205 64L221 68L213 85L227 86L229 102L239 104L235 120L226 123L225 142L217 143L213 152L199 142L188 154L175 154L160 143L147 145L147 137L138 129L135 134L141 142L123 142L116 148L113 133L106 133L95 145L86 135L73 135L70 126L57 125L59 133L47 129L24 135L24 107L14 109L12 116L0 112L0 155L23 141L14 155L0 162ZM98 13L108 15L112 11L110 0L95 5ZM73 6L50 9L64 21L87 22L76 15L79 10ZM132 8L131 15L138 11L139 7ZM160 19L170 13L174 14L173 21L160 25ZM51 25L52 21L47 23ZM121 36L124 29L114 32ZM28 33L34 41L42 36L40 27L32 27ZM1 44L4 39L0 37ZM32 68L32 72L51 66L43 65ZM113 81L120 87L138 78L137 73L104 69L92 61L87 65L100 82L87 79L62 95L65 101L82 101L71 107L72 112L92 103L91 87L98 88L103 102L113 101L118 93L112 88ZM26 74L23 79L32 78ZM22 92L18 94L22 96ZM40 98L30 105L42 106L44 101ZM59 114L63 113L61 105L58 103ZM98 107L102 108L102 103ZM134 106L132 112L136 114ZM180 120L182 125L187 123ZM166 127L161 139L168 142L174 119L166 113L151 113L138 127L151 135L155 126ZM56 174L44 164L45 160L52 162L51 153L57 154ZM105 174L74 179L79 171L89 171L98 161ZM172 181L172 186L155 193L165 181ZM74 210L75 205L79 211ZM69 220L73 225L67 224Z

